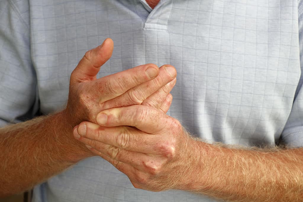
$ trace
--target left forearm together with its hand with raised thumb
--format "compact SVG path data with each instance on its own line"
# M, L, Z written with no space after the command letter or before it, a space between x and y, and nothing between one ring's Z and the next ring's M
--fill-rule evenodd
M171 65L140 65L96 78L112 55L113 41L85 53L71 74L66 109L48 116L0 128L0 197L22 192L92 156L73 138L81 121L96 122L96 115L112 107L142 104L166 113L176 83Z

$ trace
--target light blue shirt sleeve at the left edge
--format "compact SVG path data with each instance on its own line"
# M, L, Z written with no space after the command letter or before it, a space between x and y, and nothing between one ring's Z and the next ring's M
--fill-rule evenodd
M33 118L37 79L31 61L27 0L0 1L0 127Z

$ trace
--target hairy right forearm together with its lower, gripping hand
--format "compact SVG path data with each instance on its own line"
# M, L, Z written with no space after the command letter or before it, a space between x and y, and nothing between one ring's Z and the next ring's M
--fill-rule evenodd
M102 111L97 122L76 126L75 139L136 188L188 190L228 201L302 201L303 148L207 144L178 120L143 105Z

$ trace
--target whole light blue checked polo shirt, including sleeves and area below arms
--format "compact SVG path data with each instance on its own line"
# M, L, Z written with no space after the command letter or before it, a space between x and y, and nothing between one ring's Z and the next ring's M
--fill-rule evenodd
M98 78L171 64L168 115L209 142L303 146L301 0L0 0L0 125L64 108L85 52L112 38ZM199 173L197 173L198 175ZM33 201L214 201L135 189L100 157L34 189Z

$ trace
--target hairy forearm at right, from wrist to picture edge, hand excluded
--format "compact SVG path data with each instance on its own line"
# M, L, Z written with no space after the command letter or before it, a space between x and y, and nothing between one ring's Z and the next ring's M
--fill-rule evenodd
M228 148L195 141L200 150L183 187L228 201L301 201L303 148Z

